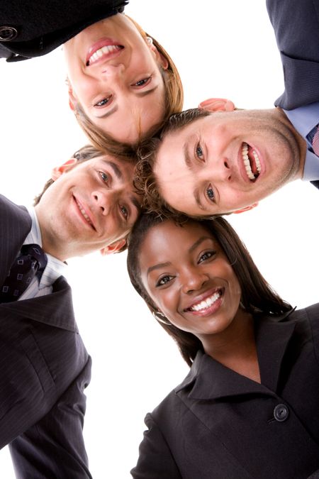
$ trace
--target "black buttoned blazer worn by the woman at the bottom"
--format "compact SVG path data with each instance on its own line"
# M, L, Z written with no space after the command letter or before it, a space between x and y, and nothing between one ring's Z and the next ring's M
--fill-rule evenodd
M133 478L306 479L319 469L319 304L256 316L255 334L262 384L198 352L147 414Z

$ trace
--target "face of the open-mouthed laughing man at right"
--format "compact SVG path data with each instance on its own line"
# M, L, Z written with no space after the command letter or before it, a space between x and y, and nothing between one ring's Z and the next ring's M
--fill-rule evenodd
M214 113L169 133L157 152L159 192L193 216L245 208L301 177L291 123L279 109Z

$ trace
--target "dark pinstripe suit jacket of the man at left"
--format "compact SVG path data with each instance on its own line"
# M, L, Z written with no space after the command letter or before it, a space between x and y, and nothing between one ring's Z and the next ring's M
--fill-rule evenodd
M23 207L0 196L0 285L30 231ZM82 436L91 378L64 277L52 294L0 304L0 447L19 479L91 478Z

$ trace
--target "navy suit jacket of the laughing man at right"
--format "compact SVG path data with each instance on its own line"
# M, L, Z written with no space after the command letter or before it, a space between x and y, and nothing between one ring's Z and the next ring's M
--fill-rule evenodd
M292 110L319 101L319 0L267 0L267 9L284 69L275 105Z

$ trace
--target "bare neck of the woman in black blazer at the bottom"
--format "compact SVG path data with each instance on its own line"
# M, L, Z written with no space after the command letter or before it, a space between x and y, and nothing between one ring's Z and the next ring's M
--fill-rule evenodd
M254 320L238 310L232 324L222 334L201 338L206 354L246 378L260 382Z

